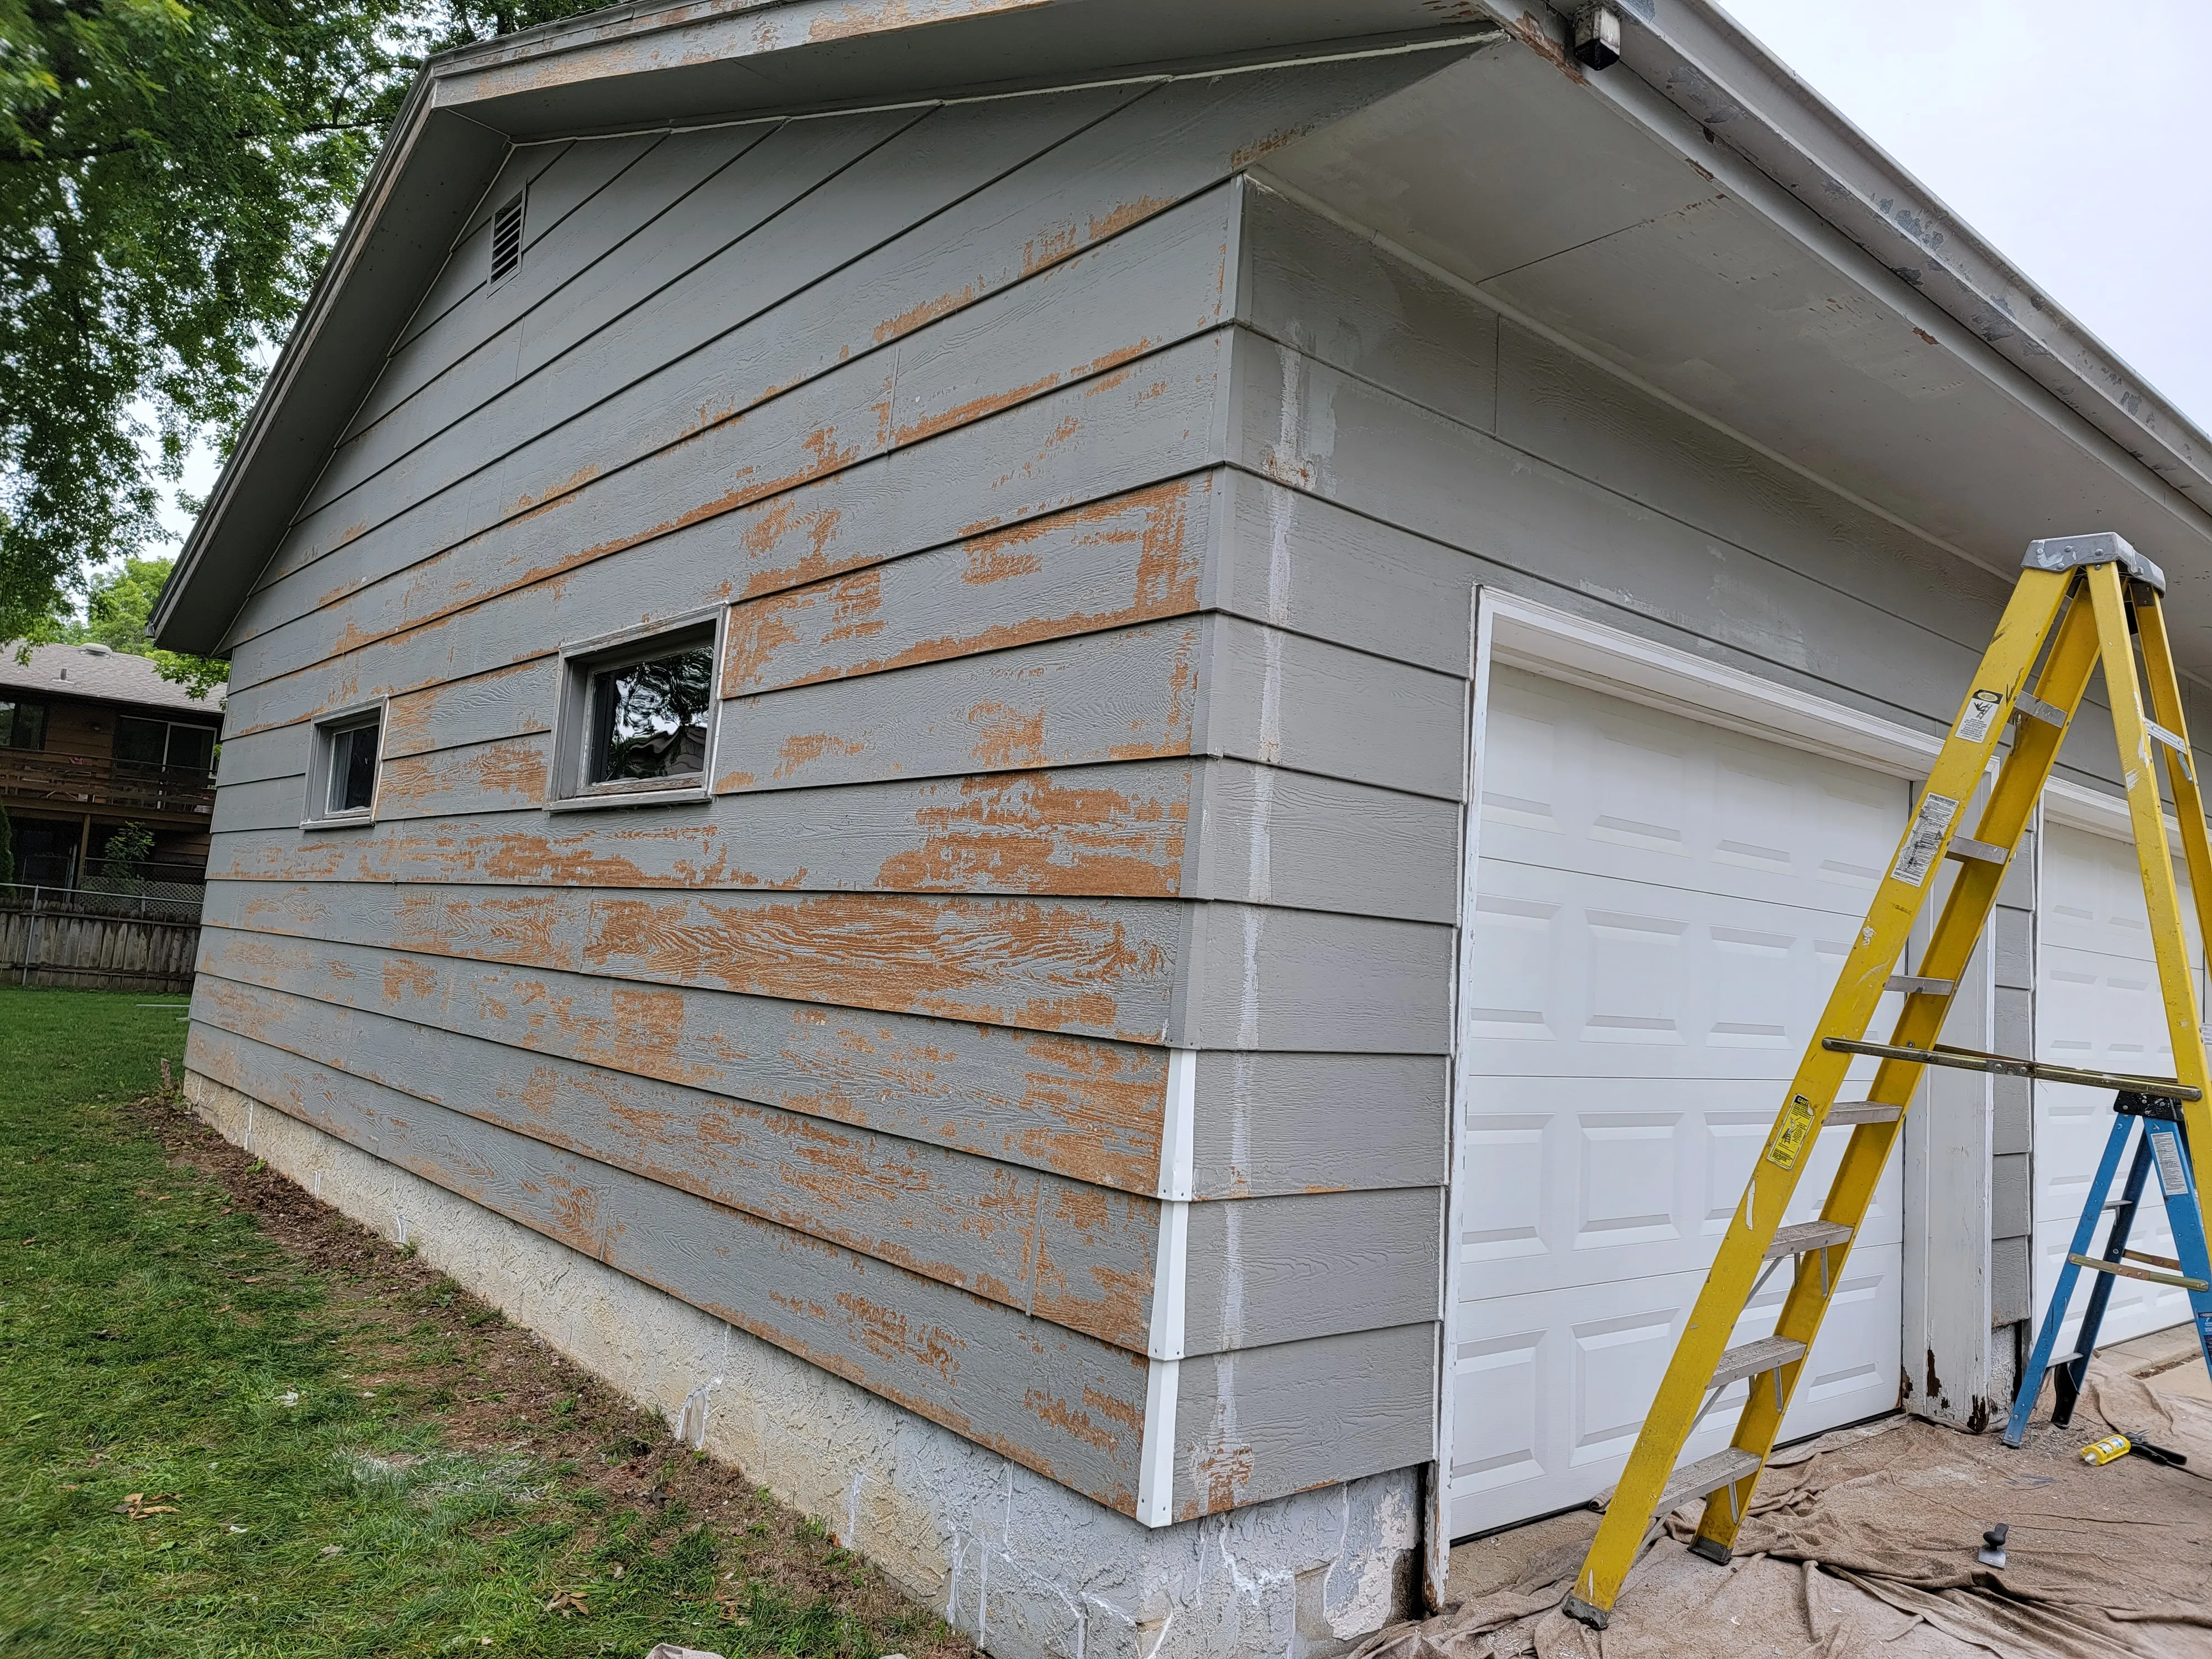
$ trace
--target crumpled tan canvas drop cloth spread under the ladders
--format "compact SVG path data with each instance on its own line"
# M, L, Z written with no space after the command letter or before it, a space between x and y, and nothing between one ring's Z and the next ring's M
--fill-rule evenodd
M2188 1471L2084 1464L2115 1429L2188 1453ZM1356 1659L2212 1659L2212 1405L2104 1365L2066 1429L2046 1394L2020 1451L1995 1429L1891 1418L1778 1453L1728 1566L1683 1548L1697 1513L1668 1520L1604 1632L1557 1610L1597 1531L1586 1513L1542 1524L1522 1559L1495 1553L1509 1577L1462 1546L1453 1595L1473 1593ZM1975 1562L1995 1522L2002 1571Z

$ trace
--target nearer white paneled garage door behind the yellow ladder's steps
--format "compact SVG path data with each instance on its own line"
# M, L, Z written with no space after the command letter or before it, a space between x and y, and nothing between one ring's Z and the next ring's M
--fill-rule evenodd
M1898 779L1511 670L1484 741L1462 1537L1619 1478L1907 814ZM1847 1139L1823 1137L1792 1221ZM1898 1400L1898 1188L1893 1157L1787 1436ZM1772 1332L1787 1279L1736 1340ZM1690 1455L1728 1444L1741 1398Z

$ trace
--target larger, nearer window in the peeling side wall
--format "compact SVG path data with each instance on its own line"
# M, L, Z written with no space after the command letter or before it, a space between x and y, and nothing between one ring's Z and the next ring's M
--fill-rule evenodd
M706 790L714 697L712 622L571 655L562 794Z

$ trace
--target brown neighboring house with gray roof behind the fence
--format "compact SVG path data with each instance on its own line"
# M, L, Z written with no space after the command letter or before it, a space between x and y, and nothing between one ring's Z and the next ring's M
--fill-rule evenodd
M0 810L15 880L75 887L128 823L166 880L208 865L223 688L192 697L153 659L106 646L0 644Z

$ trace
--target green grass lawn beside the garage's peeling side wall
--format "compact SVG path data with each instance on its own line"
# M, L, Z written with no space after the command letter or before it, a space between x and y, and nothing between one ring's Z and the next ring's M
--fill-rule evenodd
M184 1055L148 1002L0 989L0 1655L964 1650L294 1188L367 1265L272 1237L243 1157L139 1102Z

